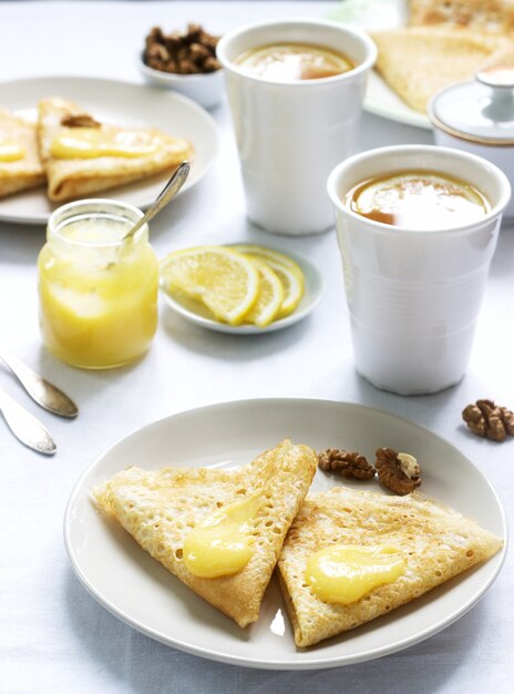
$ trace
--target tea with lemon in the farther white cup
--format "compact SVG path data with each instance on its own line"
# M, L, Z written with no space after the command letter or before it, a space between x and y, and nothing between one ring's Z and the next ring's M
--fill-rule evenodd
M274 82L332 78L354 67L342 53L308 43L261 45L241 53L236 64L247 74Z

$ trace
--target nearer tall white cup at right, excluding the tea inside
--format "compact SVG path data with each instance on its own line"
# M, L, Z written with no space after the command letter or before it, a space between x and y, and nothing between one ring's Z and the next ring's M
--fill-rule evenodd
M352 212L354 185L430 170L481 191L491 211L472 224L413 231ZM435 392L464 375L511 186L494 164L431 145L371 150L328 178L336 211L357 370L401 395Z

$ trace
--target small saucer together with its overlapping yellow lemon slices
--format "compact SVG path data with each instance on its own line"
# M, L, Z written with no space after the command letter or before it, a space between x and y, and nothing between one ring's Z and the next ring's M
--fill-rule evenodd
M161 261L160 276L175 312L233 334L285 328L310 313L322 290L308 261L254 244L174 251Z

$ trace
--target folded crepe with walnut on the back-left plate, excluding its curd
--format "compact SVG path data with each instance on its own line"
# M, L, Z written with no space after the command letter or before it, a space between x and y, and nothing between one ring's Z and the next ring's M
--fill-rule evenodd
M112 141L151 143L155 149L140 156L102 155L91 159L58 157L52 143L63 133L76 135L82 130L101 132ZM60 98L39 103L38 139L41 160L48 176L48 196L63 201L85 197L157 173L172 173L193 156L193 147L184 137L172 137L153 127L117 127L99 123L83 109Z

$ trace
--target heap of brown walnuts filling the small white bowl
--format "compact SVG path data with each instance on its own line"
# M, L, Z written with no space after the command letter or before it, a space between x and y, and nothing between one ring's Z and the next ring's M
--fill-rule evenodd
M218 40L219 37L207 33L201 24L188 24L186 31L167 35L160 27L154 27L145 39L143 61L162 72L214 72L222 67L216 59Z

